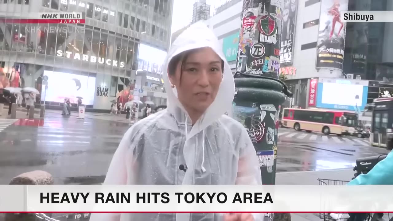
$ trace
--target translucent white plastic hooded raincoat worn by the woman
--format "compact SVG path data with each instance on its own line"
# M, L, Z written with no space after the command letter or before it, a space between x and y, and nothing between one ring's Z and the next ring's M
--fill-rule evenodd
M175 55L202 47L212 48L224 60L224 74L217 97L191 125L166 70ZM224 115L231 109L235 84L213 32L203 23L186 29L172 44L163 70L167 109L138 121L125 133L104 184L261 184L259 163L246 129ZM187 166L185 172L180 164ZM262 214L253 216L262 220ZM222 214L92 214L90 220L219 221Z

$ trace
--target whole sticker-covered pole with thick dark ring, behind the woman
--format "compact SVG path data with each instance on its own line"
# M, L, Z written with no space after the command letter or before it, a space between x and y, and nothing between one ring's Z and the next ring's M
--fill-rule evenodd
M244 0L233 118L255 147L263 184L275 184L278 118L292 94L278 80L283 0Z

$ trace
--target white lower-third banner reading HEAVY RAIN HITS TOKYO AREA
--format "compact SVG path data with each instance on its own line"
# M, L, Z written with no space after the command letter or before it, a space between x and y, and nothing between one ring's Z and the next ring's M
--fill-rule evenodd
M2 185L0 212L393 212L393 187Z

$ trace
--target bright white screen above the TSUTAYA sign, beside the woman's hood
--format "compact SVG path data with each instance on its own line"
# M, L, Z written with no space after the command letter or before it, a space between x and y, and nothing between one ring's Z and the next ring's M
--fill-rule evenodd
M146 44L139 44L138 69L162 74L162 64L167 52L153 48Z

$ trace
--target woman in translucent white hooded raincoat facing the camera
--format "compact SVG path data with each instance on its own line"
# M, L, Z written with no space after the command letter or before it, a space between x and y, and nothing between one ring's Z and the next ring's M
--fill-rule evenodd
M224 115L235 84L217 37L203 23L186 29L165 59L167 109L125 133L104 184L261 184L244 126ZM185 171L180 165L187 167ZM259 221L262 214L92 214L91 221Z

